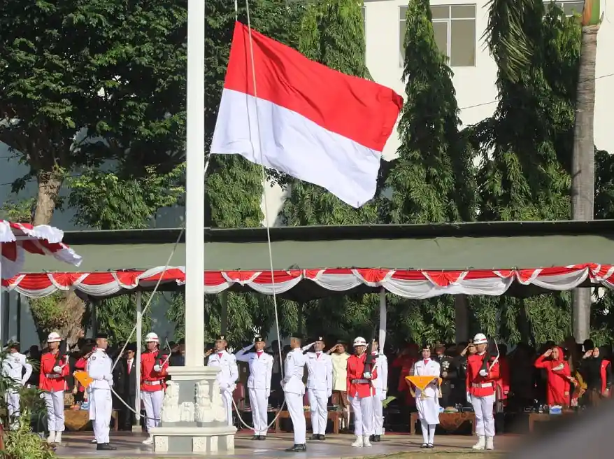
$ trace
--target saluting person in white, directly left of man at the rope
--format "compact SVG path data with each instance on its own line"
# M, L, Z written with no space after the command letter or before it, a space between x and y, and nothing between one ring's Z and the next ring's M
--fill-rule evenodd
M254 344L236 353L238 362L248 362L250 365L248 390L254 421L252 440L266 440L266 433L269 430L269 395L271 395L271 376L273 376L273 356L264 352L265 345L262 337L255 337ZM248 352L251 348L254 348L255 351Z

